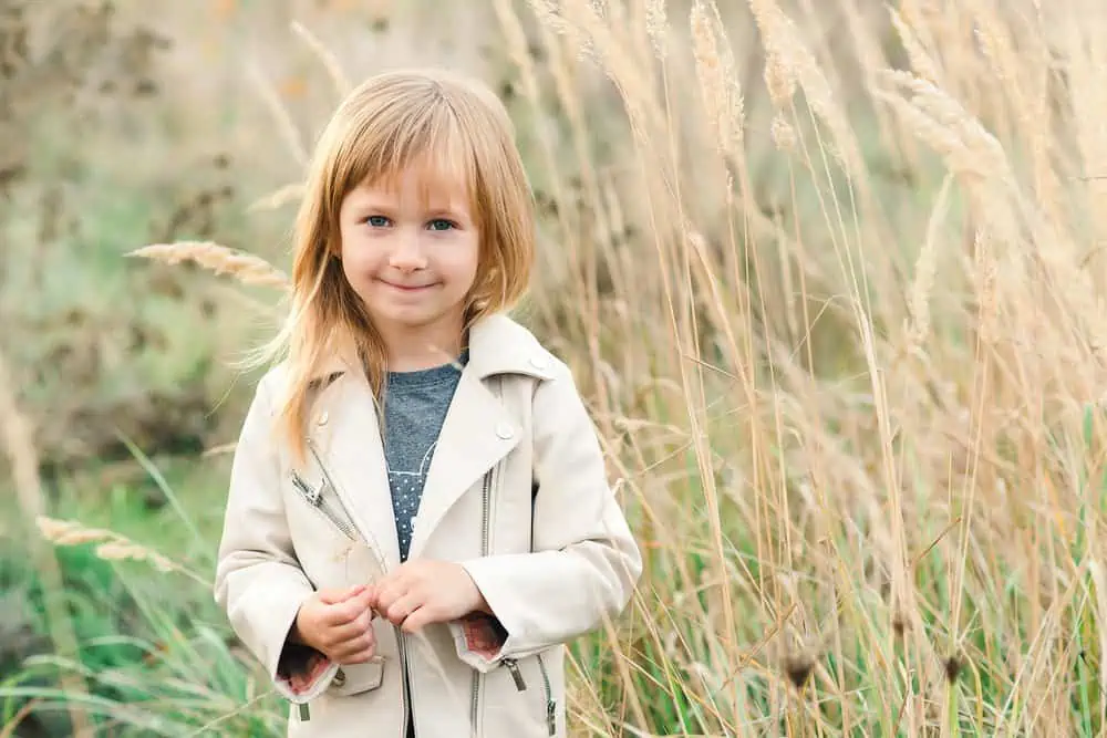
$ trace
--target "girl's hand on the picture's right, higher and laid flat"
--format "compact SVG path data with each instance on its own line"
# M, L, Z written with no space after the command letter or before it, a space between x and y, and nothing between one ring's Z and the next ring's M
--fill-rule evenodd
M380 580L372 606L405 633L474 611L488 612L488 603L464 567L424 559L408 561Z

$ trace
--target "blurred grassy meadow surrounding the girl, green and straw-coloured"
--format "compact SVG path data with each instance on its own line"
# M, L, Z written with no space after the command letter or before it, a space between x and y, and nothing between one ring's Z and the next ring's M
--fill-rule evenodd
M645 558L573 735L1107 735L1103 0L0 0L0 738L283 735L236 362L402 65L516 121Z

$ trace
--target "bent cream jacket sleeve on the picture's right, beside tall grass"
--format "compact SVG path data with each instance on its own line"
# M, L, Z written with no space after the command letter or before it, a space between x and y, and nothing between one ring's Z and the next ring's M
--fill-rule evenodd
M478 669L567 643L614 619L627 606L642 559L611 490L596 428L569 368L535 391L534 552L463 562L507 632L492 658L466 648L465 625L454 630L458 654Z

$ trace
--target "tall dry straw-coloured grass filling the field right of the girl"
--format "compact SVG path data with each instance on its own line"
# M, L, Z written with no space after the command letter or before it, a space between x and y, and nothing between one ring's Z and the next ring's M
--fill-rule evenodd
M572 724L1101 735L1107 12L832 4L494 3L646 555Z

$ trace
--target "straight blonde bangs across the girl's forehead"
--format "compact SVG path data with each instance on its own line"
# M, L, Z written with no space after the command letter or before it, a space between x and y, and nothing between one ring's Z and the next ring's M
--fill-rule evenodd
M337 171L338 193L344 195L362 184L397 188L400 178L413 173L421 205L428 207L444 196L456 196L479 220L473 141L448 104L382 110L351 136L350 150L339 157L348 166L345 171Z

